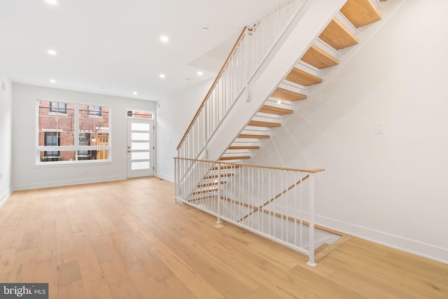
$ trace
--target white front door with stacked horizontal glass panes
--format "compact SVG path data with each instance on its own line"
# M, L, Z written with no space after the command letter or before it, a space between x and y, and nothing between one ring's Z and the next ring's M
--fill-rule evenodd
M154 175L154 120L127 118L127 177Z

